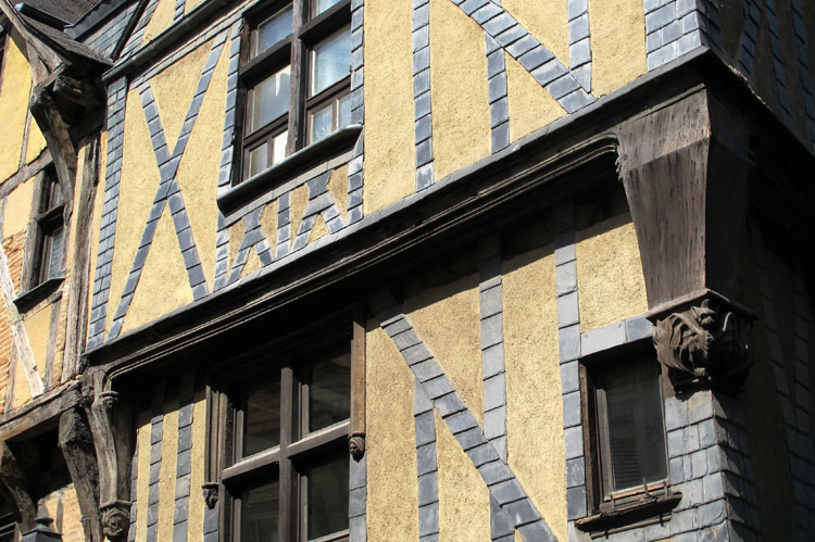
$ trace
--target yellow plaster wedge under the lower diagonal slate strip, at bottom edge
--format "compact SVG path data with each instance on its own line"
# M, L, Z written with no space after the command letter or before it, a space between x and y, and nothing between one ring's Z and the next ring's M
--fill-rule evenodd
M490 540L489 490L439 413L434 412L434 417L439 467L439 540Z

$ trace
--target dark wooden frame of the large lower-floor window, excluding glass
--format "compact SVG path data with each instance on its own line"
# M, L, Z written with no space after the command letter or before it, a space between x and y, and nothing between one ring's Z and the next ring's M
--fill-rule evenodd
M303 330L294 337L256 346L213 370L211 380L217 382L218 388L210 389L208 417L211 430L206 470L209 479L217 480L222 488L221 532L225 540L240 540L240 493L259 484L258 475L268 477L271 481L275 474L279 484L280 540L305 540L308 492L303 474L319 465L328 454L335 459L342 457L352 461L348 454L348 439L354 433L353 428L360 425L360 401L364 404L364 336L361 339L364 326L361 327L349 311L342 311L339 316L330 317L328 324L317 327L316 330ZM314 344L322 346L314 348ZM303 426L308 420L302 416L308 392L305 374L314 363L343 351L350 354L351 364L350 416L329 427L305 432L302 430L302 427L308 427ZM361 367L363 376L360 380ZM241 392L246 390L247 382L259 381L259 377L271 376L278 370L281 390L280 442L248 457L240 457L243 433ZM362 390L359 389L360 383ZM364 427L364 414L362 416ZM348 538L347 528L318 540L329 542Z

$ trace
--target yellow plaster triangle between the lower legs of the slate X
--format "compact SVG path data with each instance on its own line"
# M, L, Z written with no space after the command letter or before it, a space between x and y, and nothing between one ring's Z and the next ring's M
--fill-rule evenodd
M122 331L143 326L192 302L184 256L168 212L159 218L153 244L141 269ZM115 300L118 305L118 299Z

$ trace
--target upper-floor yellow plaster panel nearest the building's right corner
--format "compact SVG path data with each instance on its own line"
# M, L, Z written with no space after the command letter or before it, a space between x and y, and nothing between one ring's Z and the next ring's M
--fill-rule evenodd
M607 94L648 71L641 1L589 0L589 29L594 96Z

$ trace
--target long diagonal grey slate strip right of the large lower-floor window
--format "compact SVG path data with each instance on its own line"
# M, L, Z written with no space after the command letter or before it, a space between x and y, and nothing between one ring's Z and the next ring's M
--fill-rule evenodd
M432 401L432 407L444 420L462 450L469 456L487 484L490 497L507 516L513 528L521 532L527 542L556 541L554 533L527 495L512 468L501 459L494 444L487 439L484 429L461 400L450 379L418 337L390 291L385 288L375 291L369 297L368 303L376 314L379 326L385 329L399 349L402 358L413 371L415 381ZM418 459L421 472L424 459L422 457ZM422 517L419 515L419 520Z

